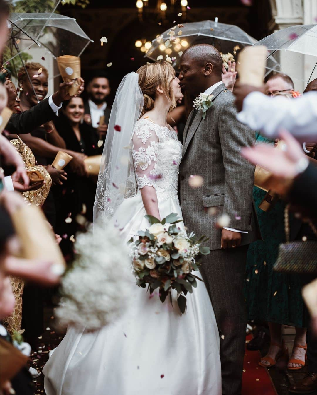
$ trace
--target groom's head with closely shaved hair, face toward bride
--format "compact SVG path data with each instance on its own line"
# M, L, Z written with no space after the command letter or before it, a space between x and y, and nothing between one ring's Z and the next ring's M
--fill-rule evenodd
M221 81L222 58L213 45L196 44L180 58L180 84L192 95L204 92Z

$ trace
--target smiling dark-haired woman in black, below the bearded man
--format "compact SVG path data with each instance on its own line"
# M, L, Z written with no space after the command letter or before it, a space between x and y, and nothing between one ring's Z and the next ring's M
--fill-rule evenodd
M64 139L66 149L80 152L87 156L96 154L97 137L91 133L89 125L82 122L84 117L84 101L81 97L74 97L63 102L61 116L55 122L56 128ZM69 166L68 166L69 167ZM91 177L79 176L72 169L67 169L68 180L62 187L56 188L57 203L57 233L68 237L61 243L62 250L69 252L72 242L69 240L78 230L76 215L82 213L92 221L93 205L96 194L96 182ZM72 222L66 223L70 216Z

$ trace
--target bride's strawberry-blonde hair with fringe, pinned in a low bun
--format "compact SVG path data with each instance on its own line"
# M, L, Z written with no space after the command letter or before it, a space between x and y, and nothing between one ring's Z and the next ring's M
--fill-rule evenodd
M175 77L175 70L167 62L148 63L140 67L137 71L139 74L139 85L144 97L144 105L141 117L154 108L156 88L161 87L165 96L171 101L169 111L176 107L173 88L171 82Z

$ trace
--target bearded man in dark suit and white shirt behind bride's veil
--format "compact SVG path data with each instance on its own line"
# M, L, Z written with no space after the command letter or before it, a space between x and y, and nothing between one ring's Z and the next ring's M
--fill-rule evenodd
M88 100L85 102L85 122L91 126L92 132L97 139L105 140L108 129L111 107L106 102L110 94L110 82L108 74L104 71L91 72L86 86ZM100 123L100 117L104 117ZM101 152L103 146L100 147Z

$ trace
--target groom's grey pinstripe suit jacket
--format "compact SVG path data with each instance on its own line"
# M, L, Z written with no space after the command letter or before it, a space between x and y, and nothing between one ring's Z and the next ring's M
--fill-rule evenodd
M255 132L236 119L234 96L224 84L213 95L205 119L201 111L194 119L194 111L188 117L179 174L184 224L188 231L209 237L207 245L217 250L221 229L216 229L216 220L222 213L230 216L228 227L248 231L241 245L258 238L258 224L252 199L254 166L240 155L242 147L255 143ZM201 175L203 185L191 188L190 175ZM216 214L208 214L209 207L216 207Z

